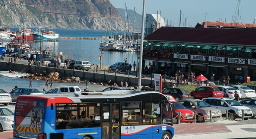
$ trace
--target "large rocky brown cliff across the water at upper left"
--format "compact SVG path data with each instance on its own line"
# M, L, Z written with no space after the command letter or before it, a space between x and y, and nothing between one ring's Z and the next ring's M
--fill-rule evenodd
M110 13L124 21L109 0L0 0L0 26L109 29ZM116 20L112 23L116 25Z

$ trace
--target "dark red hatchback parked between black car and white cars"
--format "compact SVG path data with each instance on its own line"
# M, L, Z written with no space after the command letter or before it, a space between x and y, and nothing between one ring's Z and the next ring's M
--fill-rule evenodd
M203 86L191 92L191 99L203 99L207 97L223 97L217 87Z

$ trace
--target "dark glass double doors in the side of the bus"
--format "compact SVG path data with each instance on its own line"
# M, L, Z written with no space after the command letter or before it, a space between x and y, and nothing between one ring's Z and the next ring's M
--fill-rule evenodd
M120 104L102 103L101 139L120 139Z

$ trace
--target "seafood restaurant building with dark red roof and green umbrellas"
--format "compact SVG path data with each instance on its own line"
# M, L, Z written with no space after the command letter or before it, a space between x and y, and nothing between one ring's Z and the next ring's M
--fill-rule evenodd
M157 73L197 71L208 78L250 76L256 80L256 25L204 22L194 28L161 27L145 38L143 65ZM145 47L144 47L145 48Z

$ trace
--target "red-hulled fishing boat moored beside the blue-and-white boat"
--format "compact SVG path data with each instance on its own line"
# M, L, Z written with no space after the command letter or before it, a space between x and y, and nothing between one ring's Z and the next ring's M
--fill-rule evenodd
M19 29L16 33L13 33L14 40L19 42L28 42L31 43L34 41L34 32L31 29Z

